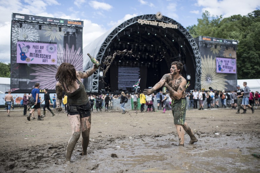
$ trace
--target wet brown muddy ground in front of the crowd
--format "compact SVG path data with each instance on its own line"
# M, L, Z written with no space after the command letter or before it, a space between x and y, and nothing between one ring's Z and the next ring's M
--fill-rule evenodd
M0 112L0 172L260 172L260 107L190 110L198 142L178 147L171 111L94 112L88 155L78 141L65 161L71 129L65 113L27 121L22 111Z

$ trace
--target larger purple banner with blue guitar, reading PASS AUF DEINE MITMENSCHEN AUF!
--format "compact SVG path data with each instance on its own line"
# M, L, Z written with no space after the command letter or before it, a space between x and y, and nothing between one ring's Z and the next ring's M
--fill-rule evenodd
M57 65L57 44L17 41L16 62Z

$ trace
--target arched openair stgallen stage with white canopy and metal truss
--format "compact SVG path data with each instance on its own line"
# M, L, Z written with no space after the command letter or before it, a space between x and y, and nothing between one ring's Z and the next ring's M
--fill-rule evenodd
M201 58L198 46L187 29L175 20L157 13L140 15L124 21L83 49L83 70L92 66L87 53L102 62L108 55L113 55L114 51L124 49L129 51L132 49L134 56L117 56L112 64L115 67L143 65L147 69L146 73L149 74L147 81L143 82L147 83L144 88L153 86L163 74L169 73L172 61L183 62L182 75L190 81L190 88L200 88ZM151 76L155 70L159 74L157 77ZM108 73L106 76L108 81L105 81L104 86L100 86L102 85L99 82L100 72L101 70L97 70L91 78L84 80L86 90L99 92L100 89L110 88L113 76L111 74L109 76ZM142 78L141 82L144 80ZM112 90L120 89L113 87L111 92Z

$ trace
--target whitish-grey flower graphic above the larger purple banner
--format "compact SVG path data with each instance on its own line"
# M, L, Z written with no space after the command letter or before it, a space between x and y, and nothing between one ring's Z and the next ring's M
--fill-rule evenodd
M17 40L38 41L39 33L32 25L23 24L23 27L13 27L12 42L17 43Z

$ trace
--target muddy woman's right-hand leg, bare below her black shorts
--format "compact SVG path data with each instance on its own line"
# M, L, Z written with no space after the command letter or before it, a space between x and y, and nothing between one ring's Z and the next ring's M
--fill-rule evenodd
M91 116L81 118L80 123L81 123L81 133L82 133L82 141L81 141L82 153L81 153L81 155L86 155L87 149L88 149L88 143L89 143Z

